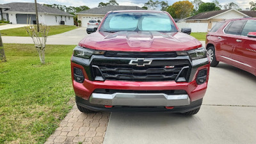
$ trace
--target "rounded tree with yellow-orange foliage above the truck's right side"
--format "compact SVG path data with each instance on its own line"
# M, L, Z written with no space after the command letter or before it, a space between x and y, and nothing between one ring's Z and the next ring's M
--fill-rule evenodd
M173 3L172 6L169 6L166 11L175 19L184 19L189 17L193 8L193 4L189 1L177 1Z

